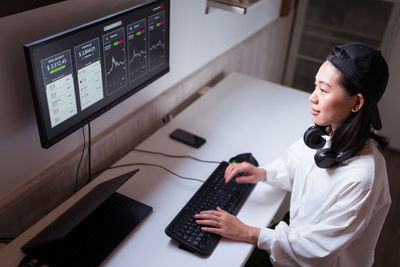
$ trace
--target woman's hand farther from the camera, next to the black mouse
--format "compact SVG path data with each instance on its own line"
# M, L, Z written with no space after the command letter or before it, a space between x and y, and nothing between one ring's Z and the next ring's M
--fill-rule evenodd
M245 173L246 176L236 177L237 183L255 184L267 178L267 171L263 168L257 168L248 162L232 163L225 170L225 183L232 180L238 173Z

